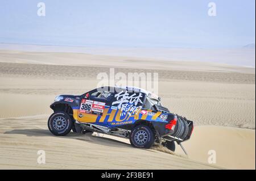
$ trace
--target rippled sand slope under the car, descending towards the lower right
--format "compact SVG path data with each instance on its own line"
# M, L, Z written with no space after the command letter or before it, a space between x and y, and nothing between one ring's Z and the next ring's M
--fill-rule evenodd
M0 169L218 168L162 151L135 149L104 137L76 133L56 137L46 122L47 118L36 116L0 121ZM38 150L46 151L46 164L37 163Z

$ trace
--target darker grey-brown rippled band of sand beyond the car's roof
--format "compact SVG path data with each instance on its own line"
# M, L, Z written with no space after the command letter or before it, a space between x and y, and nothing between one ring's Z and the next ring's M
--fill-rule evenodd
M96 79L101 72L109 73L111 66L64 66L64 65L37 65L0 63L0 75L8 77L31 77L46 79ZM118 65L118 64L117 64ZM138 69L138 67L141 67ZM152 66L154 67L154 66ZM182 66L180 67L182 69ZM57 70L57 71L56 71ZM255 83L255 74L224 71L191 71L191 70L165 70L145 69L144 66L134 68L115 68L115 73L158 73L160 81L202 81L223 83Z

